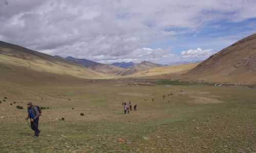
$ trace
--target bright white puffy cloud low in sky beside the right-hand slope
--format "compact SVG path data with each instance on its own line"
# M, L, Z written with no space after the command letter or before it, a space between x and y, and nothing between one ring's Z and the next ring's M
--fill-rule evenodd
M182 58L186 59L204 59L213 54L212 49L189 49L187 51L182 51L181 56Z

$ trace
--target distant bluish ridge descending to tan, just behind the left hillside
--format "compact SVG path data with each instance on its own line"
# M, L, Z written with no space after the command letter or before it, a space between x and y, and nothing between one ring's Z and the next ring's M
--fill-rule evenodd
M76 58L73 58L70 56L65 58L65 60L86 66L86 67L88 67L92 70L95 70L97 72L100 72L100 73L117 74L124 70L123 68L120 68L118 66L114 66L114 65L110 65L110 64L101 64L101 63L90 61L87 59L76 59Z

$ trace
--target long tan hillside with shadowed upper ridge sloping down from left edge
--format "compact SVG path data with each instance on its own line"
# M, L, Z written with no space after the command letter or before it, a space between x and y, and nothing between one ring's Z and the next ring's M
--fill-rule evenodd
M55 77L53 75L69 75L83 79L109 77L75 63L3 41L0 41L0 69L1 73L3 72L0 78L5 77L7 80L28 76L40 78L44 74L49 74L52 78Z

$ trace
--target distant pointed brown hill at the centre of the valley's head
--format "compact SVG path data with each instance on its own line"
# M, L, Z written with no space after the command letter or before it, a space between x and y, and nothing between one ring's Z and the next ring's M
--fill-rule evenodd
M124 71L122 71L121 73L119 73L119 75L130 75L139 71L143 71L143 70L147 70L153 67L160 67L162 65L160 64L156 64L153 62L148 62L148 61L143 61L140 64L136 64L133 65L127 69L125 69Z

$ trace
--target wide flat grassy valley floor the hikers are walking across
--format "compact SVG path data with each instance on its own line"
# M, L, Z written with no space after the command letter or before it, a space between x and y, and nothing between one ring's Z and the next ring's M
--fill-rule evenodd
M135 79L0 82L0 152L256 152L255 93ZM25 120L28 101L49 107L38 138ZM125 115L129 101L138 110Z

